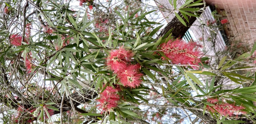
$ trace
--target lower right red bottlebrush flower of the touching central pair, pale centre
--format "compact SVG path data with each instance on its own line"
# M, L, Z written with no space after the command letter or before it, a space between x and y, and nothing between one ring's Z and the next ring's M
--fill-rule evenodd
M126 68L122 68L117 72L117 76L120 79L120 82L127 87L135 88L141 84L141 74L138 70L140 65L128 65Z

